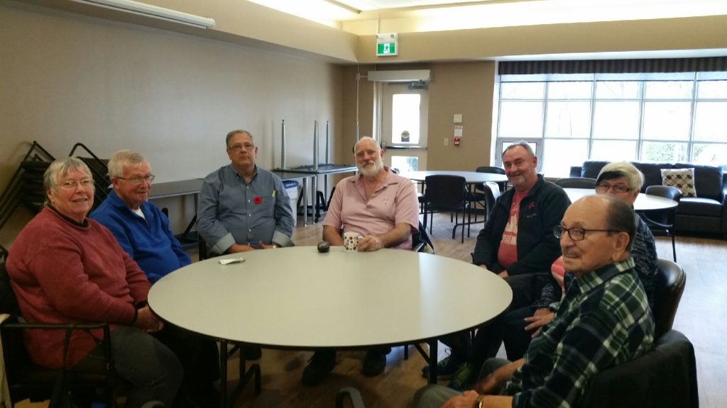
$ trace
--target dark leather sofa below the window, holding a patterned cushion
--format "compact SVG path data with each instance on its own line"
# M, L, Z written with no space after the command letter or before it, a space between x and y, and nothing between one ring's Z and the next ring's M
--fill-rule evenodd
M587 160L583 166L571 167L571 177L597 178L606 161ZM697 197L682 197L677 208L674 228L677 234L720 234L727 239L727 176L716 166L692 163L631 162L644 176L646 187L662 184L662 168L694 168L694 189Z

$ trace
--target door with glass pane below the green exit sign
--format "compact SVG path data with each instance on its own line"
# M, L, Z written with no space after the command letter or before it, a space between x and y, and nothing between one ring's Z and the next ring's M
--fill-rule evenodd
M416 83L377 83L377 134L385 164L401 172L427 169L427 89Z

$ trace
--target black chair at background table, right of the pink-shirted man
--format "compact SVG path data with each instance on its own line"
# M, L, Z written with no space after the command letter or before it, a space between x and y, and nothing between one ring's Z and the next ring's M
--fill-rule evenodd
M426 208L424 216L430 215L429 232L432 233L432 224L435 211L454 212L454 221L457 221L459 211L462 211L462 243L465 242L465 216L467 215L467 182L462 176L427 176L425 179L424 197ZM457 232L459 223L452 229L452 238Z

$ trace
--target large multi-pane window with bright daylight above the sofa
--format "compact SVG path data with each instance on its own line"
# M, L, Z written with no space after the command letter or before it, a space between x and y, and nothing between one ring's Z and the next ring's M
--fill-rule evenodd
M727 167L727 72L500 79L498 164L504 146L526 140L549 177L587 159Z

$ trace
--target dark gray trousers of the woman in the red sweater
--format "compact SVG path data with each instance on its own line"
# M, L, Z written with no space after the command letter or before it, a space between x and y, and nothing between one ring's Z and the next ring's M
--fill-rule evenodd
M156 338L136 327L119 326L111 331L111 351L119 378L131 384L127 408L159 401L172 407L182 383L182 364L177 356ZM97 346L74 368L103 367L103 348Z

